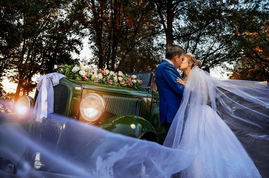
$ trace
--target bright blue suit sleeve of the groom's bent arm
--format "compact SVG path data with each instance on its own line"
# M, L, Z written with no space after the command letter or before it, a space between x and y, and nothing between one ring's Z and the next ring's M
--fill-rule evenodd
M184 87L180 83L177 82L177 77L181 78L175 68L172 66L166 65L163 68L163 78L167 85L178 93L180 96L183 96ZM182 79L182 78L181 78Z

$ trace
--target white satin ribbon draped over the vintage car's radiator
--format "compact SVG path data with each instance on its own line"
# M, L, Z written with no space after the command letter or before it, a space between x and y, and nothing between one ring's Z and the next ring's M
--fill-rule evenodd
M43 117L47 118L49 113L53 113L53 86L58 85L61 78L65 78L65 76L57 72L37 78L39 83L36 85L36 88L39 93L37 95L33 112L36 115L36 121L42 122Z

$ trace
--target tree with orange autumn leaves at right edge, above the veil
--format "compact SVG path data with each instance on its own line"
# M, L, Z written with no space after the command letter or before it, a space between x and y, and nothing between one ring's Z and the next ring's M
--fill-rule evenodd
M238 57L230 79L266 81L269 78L269 2L242 11L233 19Z

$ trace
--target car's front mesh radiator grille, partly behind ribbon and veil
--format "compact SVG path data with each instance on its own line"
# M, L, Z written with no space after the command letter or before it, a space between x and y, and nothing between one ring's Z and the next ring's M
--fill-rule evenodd
M68 88L65 85L59 84L53 86L53 89L54 113L49 114L48 118L43 118L42 123L37 122L36 115L34 115L30 130L30 139L50 151L54 151L57 147L59 135L63 128L63 118L68 98ZM34 164L36 152L40 152L40 161L46 164L48 159L43 157L40 150L28 148L28 160Z

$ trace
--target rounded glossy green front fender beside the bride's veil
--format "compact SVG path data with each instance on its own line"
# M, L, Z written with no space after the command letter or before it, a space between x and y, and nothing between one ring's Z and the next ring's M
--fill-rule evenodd
M155 142L159 140L152 125L146 119L136 115L115 116L98 124L98 127L134 138Z

